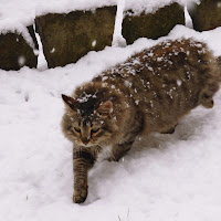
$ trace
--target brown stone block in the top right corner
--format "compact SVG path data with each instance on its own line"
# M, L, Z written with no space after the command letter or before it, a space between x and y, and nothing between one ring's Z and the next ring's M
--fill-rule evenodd
M221 27L221 0L202 0L189 10L196 31L208 31Z

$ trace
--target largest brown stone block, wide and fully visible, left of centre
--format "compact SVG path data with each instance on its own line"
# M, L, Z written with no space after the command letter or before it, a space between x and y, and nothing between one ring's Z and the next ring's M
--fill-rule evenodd
M35 19L49 67L75 63L90 51L112 45L116 7Z

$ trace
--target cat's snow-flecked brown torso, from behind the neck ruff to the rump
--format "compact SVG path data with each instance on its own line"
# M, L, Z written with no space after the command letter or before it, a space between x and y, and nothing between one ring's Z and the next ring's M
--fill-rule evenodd
M212 107L220 71L207 44L179 39L144 50L95 81L123 91L152 125L175 125L200 104Z

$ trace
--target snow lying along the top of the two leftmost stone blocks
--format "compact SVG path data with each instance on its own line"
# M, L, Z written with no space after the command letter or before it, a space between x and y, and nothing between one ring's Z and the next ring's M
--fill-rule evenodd
M0 21L14 21L24 25L34 22L36 15L69 13L75 10L94 10L104 6L116 6L117 0L1 0Z

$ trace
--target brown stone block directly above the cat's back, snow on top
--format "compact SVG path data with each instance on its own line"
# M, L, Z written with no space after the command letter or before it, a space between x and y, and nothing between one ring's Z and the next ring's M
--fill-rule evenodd
M183 7L177 2L158 9L155 13L133 15L127 11L123 20L123 36L128 44L139 38L158 39L167 35L176 24L185 24Z

